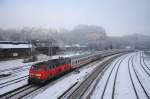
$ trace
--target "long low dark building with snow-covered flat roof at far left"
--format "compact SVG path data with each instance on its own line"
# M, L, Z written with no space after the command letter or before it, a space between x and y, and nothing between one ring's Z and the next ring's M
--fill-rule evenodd
M28 42L0 41L0 60L29 57L32 45Z

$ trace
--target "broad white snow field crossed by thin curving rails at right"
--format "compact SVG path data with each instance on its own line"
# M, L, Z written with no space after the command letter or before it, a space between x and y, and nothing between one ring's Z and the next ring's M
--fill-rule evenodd
M110 68L105 72L102 79L97 84L97 87L95 88L91 96L91 99L112 99L112 98L114 99L137 99L137 97L139 99L148 99L150 96L150 86L149 86L150 76L142 68L142 65L144 65L143 62L141 62L140 64L141 53L142 52L131 53L127 55L127 57L123 58L120 64L120 67L118 69L116 82L115 82L115 74L117 72L117 67L119 66L119 61L117 63L116 61L113 62ZM132 58L133 58L133 67L132 67ZM129 74L128 62L129 62L129 69L131 72L131 77L133 79L133 84L131 82L131 78ZM117 65L115 65L114 67L115 63ZM112 74L110 75L110 71L112 70L113 67L114 67L114 70ZM133 70L134 68L135 68L135 72L139 80L136 77L136 74ZM148 72L150 73L150 71ZM106 81L109 75L110 75L110 78L108 80L108 84L106 84ZM135 87L136 92L134 90L134 87Z

